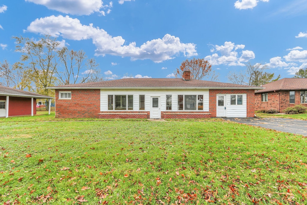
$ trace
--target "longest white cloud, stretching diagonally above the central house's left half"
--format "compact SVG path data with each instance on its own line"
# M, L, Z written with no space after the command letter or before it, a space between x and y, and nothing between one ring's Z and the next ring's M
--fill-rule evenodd
M125 44L121 36L112 37L105 30L80 23L77 18L69 16L49 16L36 19L28 26L28 32L50 34L53 37L61 36L71 40L92 39L96 45L95 55L106 54L130 57L131 60L150 59L156 63L173 59L175 55L183 53L185 57L197 55L196 45L193 43L181 43L179 37L165 34L162 39L153 39L143 43L140 47L136 42Z

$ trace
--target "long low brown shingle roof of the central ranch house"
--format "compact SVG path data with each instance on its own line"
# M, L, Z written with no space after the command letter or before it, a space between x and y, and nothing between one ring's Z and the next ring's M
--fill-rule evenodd
M243 88L261 89L249 85L237 85L202 80L184 81L181 78L127 78L112 81L100 81L49 87L49 89L85 89L85 88Z

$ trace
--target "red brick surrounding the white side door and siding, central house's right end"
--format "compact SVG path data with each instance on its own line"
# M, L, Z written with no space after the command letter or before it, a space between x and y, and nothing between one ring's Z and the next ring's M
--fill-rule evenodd
M209 90L209 112L212 117L216 117L216 95L218 94L245 94L247 117L255 116L255 90L238 89L238 90Z

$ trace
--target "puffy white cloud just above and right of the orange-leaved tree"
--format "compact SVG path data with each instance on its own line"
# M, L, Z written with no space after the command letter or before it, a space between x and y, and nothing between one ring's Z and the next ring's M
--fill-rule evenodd
M240 65L244 66L242 62L247 62L255 58L255 53L251 50L243 50L241 56L238 56L238 50L244 49L245 45L235 45L231 41L226 41L224 45L213 45L213 49L210 51L219 52L213 53L210 56L204 57L205 60L209 61L212 65Z

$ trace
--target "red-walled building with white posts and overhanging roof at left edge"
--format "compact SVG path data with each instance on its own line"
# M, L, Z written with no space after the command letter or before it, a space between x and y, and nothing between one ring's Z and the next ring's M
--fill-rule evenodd
M37 98L52 99L53 97L0 85L0 117L35 115Z

